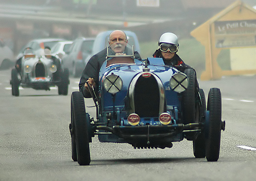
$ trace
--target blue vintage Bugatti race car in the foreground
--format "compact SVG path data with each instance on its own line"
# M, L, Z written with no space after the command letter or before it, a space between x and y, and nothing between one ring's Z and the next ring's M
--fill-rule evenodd
M133 51L132 51L133 52ZM161 58L143 61L134 55L109 56L100 69L99 92L90 89L96 118L85 110L81 92L71 95L72 159L91 161L89 143L129 143L136 148L171 148L184 138L193 141L194 155L217 161L220 152L221 94L197 86L196 72L164 65Z

